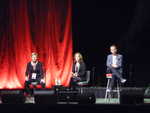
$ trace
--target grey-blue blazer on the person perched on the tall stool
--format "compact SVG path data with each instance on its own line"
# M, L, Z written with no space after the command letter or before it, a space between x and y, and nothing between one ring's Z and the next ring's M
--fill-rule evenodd
M109 68L112 68L111 64L112 64L112 54L107 56L107 62L106 62L107 70L109 70ZM121 54L117 55L117 65L118 65L118 67L116 69L119 70L122 73L122 70L123 70L123 56Z

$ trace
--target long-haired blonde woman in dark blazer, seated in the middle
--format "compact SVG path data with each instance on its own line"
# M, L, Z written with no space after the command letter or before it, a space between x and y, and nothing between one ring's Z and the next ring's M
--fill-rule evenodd
M72 78L70 83L71 87L75 88L77 86L77 82L85 80L85 71L86 66L81 53L75 53L72 66Z

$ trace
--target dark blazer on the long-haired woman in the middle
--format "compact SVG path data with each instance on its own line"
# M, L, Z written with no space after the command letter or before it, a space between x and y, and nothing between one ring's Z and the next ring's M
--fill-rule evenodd
M86 65L84 62L80 62L80 68L79 68L79 77L81 79L84 79L84 75L85 75L85 71L86 71ZM75 73L75 63L73 63L73 66L72 66L72 72Z

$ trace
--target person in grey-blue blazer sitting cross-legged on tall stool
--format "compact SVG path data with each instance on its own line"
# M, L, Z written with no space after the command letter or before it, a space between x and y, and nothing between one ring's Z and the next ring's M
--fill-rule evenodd
M107 73L112 73L112 79L110 82L109 90L113 88L114 81L119 79L121 83L125 83L126 79L122 77L122 61L123 56L117 53L117 47L115 45L110 46L111 54L107 56Z

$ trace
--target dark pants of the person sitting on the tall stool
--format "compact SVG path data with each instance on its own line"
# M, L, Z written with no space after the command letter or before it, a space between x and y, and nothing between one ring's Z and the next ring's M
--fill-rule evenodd
M123 78L122 78L122 73L120 72L119 69L109 68L109 70L112 73L112 78L111 78L111 81L110 81L109 88L112 89L114 87L115 81L119 80L119 82L120 82Z

